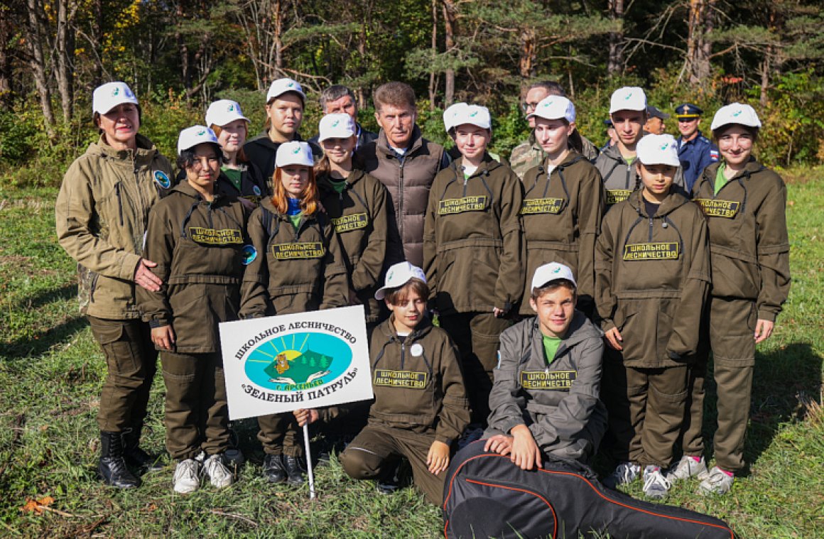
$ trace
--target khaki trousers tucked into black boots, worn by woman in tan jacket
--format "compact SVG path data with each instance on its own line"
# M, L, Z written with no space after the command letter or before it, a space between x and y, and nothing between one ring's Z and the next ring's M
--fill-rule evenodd
M103 349L107 368L97 410L97 426L103 432L120 433L132 429L139 433L157 372L152 330L138 319L87 318L91 334Z

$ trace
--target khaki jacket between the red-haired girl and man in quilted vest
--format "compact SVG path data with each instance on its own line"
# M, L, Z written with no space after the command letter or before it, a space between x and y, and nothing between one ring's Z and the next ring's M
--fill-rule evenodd
M328 176L317 180L321 203L338 233L344 251L349 285L363 303L366 321L376 322L386 234L389 227L386 187L363 171L352 171L342 193L335 192Z

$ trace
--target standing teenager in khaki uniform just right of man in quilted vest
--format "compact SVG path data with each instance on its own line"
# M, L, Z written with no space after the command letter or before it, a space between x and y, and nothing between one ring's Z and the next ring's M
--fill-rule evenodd
M489 110L463 105L452 114L461 158L429 191L424 270L440 326L461 353L472 422L480 427L489 415L498 338L523 288L522 185L486 152Z

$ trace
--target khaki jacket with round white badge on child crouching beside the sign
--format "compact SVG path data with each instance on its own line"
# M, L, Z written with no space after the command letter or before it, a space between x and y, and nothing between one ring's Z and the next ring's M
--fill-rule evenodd
M369 361L375 401L369 423L434 434L449 445L470 418L455 344L428 318L401 343L394 321L391 316L372 333Z

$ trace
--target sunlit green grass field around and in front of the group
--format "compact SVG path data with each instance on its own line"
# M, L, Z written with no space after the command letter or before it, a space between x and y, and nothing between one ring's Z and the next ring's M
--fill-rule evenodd
M667 500L723 518L741 537L824 537L824 170L792 171L788 219L793 288L756 358L746 457L733 493L702 498L695 483ZM2 180L0 180L2 185ZM95 479L102 355L74 299L75 268L54 237L55 190L0 188L0 537L437 537L438 509L412 489L375 494L335 459L307 489L259 477L254 422L241 422L250 463L239 482L173 494L171 467L120 492ZM163 447L162 379L144 445ZM711 433L713 398L708 398ZM628 492L640 494L640 485ZM54 499L41 512L27 500Z

